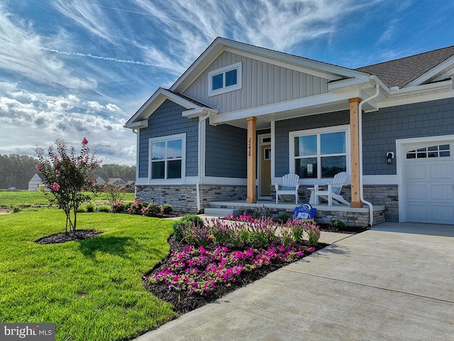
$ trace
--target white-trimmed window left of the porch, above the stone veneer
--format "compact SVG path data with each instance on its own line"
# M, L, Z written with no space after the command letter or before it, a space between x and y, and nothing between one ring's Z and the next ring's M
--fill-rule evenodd
M150 180L184 178L186 134L150 139Z

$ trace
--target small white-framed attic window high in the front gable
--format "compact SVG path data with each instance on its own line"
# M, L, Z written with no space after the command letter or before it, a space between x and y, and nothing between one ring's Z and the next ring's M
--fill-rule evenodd
M208 95L241 89L241 62L208 73Z

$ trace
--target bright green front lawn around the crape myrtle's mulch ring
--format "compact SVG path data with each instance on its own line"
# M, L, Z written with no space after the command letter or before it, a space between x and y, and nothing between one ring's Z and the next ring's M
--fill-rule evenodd
M0 215L0 322L55 323L57 340L129 340L175 318L141 277L169 251L168 220L79 213L79 242L33 241L62 232L61 210Z

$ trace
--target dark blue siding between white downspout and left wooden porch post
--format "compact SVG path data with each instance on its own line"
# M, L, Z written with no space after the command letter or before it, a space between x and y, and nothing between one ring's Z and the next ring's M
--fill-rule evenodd
M206 124L206 176L246 178L248 131L236 126Z

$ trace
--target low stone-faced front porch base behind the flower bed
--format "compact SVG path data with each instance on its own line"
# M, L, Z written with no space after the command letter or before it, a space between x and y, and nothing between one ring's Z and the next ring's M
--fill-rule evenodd
M270 211L272 215L282 213L292 214L296 205L294 202L279 202L274 200L257 200L256 202L247 202L247 200L226 200L210 201L204 209L205 215L214 217L225 217L231 213L254 212L255 210ZM312 205L316 208L316 221L329 223L331 220L341 220L348 226L368 227L370 222L369 207L349 207L346 205L328 204ZM373 206L373 224L384 222L384 205Z

